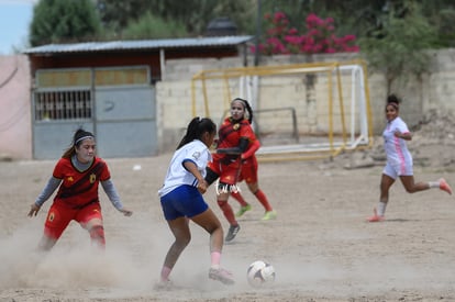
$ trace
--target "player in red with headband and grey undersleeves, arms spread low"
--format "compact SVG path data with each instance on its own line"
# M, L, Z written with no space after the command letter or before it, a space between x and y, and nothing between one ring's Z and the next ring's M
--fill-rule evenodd
M89 232L92 243L104 248L104 227L98 198L100 182L115 209L125 216L131 216L133 212L123 206L108 165L96 156L93 134L79 128L73 137L71 146L56 164L51 179L29 212L29 216L36 216L43 203L58 188L47 213L38 245L41 250L49 250L71 220Z

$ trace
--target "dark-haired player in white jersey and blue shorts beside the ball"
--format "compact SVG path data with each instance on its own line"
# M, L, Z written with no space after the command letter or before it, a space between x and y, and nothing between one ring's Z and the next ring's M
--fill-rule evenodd
M217 135L217 125L210 119L195 118L170 160L163 187L159 189L164 216L175 236L167 251L160 281L166 284L180 254L191 239L189 221L210 234L211 267L209 278L225 284L234 283L232 273L220 267L223 248L223 228L201 193L207 191L206 167L212 159L209 147Z

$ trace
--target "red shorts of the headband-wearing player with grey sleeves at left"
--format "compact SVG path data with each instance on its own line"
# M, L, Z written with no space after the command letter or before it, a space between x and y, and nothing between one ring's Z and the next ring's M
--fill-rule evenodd
M77 221L84 226L92 219L100 219L102 221L99 202L90 203L82 209L73 209L63 202L54 202L47 213L44 234L51 238L58 239L71 220Z

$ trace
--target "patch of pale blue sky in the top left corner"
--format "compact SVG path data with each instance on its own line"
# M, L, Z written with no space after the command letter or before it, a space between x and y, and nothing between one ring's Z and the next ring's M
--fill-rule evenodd
M0 0L0 55L12 55L13 46L27 47L29 25L37 0Z

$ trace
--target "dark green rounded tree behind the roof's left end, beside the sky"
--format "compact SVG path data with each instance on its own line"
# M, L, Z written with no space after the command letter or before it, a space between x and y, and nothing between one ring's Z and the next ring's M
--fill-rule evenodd
M30 25L32 46L93 40L100 19L91 0L40 0Z

